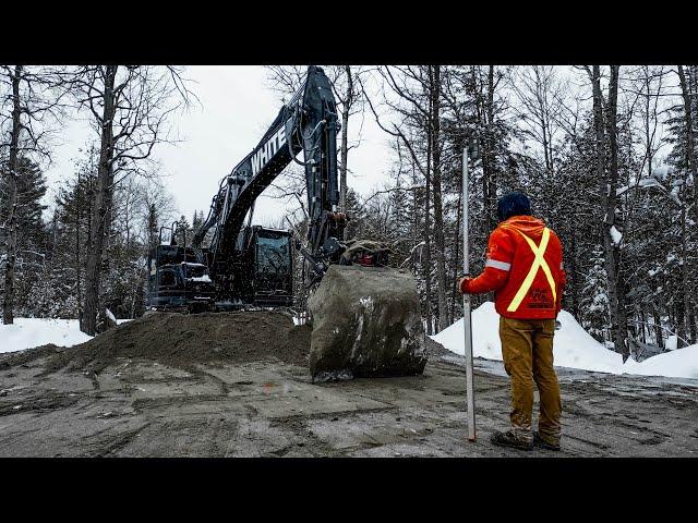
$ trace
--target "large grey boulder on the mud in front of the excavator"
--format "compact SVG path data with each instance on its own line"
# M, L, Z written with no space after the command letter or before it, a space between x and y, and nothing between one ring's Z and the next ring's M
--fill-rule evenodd
M329 267L309 301L313 380L410 376L426 364L417 283L407 271Z

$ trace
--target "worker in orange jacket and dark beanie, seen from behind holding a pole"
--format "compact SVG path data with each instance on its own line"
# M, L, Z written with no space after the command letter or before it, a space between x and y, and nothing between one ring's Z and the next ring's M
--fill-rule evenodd
M500 198L497 217L483 272L461 278L458 285L461 293L495 292L504 368L512 378L512 428L494 433L491 441L521 450L559 450L562 400L553 337L565 285L562 244L531 216L522 193ZM537 433L531 430L533 382L540 392Z

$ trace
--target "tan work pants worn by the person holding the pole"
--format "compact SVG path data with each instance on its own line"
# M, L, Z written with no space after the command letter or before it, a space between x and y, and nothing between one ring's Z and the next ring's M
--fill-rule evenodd
M512 428L517 437L531 441L533 382L540 393L538 434L559 443L562 399L553 367L554 319L500 317L504 368L512 377Z

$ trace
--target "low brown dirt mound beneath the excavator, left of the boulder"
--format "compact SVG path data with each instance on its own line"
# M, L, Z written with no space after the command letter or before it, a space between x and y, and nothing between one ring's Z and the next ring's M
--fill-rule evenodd
M246 363L274 356L306 366L311 331L308 325L294 326L290 315L273 311L149 313L71 349L36 348L5 358L2 366L47 355L50 356L47 373L67 368L98 374L120 358L144 358L190 368L196 364Z

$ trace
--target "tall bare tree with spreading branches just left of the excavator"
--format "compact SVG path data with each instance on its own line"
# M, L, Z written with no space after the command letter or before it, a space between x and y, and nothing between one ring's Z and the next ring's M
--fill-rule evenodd
M99 135L99 158L85 268L85 305L81 330L97 332L99 280L115 185L131 174L147 174L157 144L171 142L167 119L189 90L176 68L89 65L74 81L77 101L92 114Z

